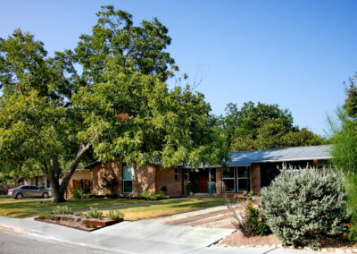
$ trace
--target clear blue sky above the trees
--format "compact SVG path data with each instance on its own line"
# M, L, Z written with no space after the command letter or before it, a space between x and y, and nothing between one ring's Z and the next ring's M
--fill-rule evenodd
M180 72L222 114L228 102L277 103L295 124L324 133L327 114L344 102L343 81L357 72L357 1L0 0L0 37L15 28L49 53L73 48L112 4L136 22L157 17L170 30L168 51Z

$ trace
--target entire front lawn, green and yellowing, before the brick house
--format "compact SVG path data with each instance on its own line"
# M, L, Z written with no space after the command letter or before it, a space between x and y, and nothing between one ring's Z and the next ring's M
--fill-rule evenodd
M155 216L171 215L205 207L215 207L224 204L220 198L167 199L148 202L139 199L70 199L62 204L52 204L51 199L0 199L0 216L29 217L48 214L53 207L67 205L75 210L89 207L111 207L126 204L137 204L133 207L121 207L120 211L126 220L138 220ZM142 204L142 203L145 204ZM104 212L105 215L105 212Z

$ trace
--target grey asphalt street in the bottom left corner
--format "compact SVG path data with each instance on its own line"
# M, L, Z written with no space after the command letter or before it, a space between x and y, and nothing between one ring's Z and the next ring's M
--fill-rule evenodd
M0 254L104 254L120 252L103 252L74 245L65 245L62 242L38 241L17 233L0 232ZM122 252L121 252L122 253Z

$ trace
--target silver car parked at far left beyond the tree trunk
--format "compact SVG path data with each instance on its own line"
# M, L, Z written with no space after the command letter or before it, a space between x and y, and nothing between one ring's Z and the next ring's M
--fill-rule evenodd
M7 195L13 199L22 199L27 197L41 197L47 199L52 196L51 189L38 188L32 185L21 185L7 191Z

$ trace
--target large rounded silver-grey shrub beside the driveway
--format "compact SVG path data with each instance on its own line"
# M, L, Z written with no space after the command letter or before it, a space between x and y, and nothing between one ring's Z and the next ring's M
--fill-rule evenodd
M336 171L285 167L261 193L267 223L283 245L313 247L320 235L343 233L346 196Z

